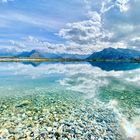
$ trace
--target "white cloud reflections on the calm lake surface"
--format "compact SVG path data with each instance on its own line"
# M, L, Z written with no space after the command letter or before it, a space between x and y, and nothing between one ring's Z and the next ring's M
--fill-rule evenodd
M108 88L108 86L112 85L112 81L117 81L119 83L113 87L119 91L127 90L127 88L131 86L137 88L140 86L140 68L133 70L128 69L125 71L105 71L102 68L90 65L89 63L42 63L36 67L22 63L1 63L0 77L6 81L7 77L9 80L12 80L13 76L21 79L25 78L25 82L34 82L32 81L33 79L38 80L56 76L57 78L55 79L55 83L51 83L51 81L49 81L50 79L48 79L48 82L53 85L57 83L60 87L65 88L66 90L81 92L86 98L96 98L96 96L100 94L100 89L102 87ZM113 98L110 100L110 102L112 100L116 100ZM117 100L117 102L120 101ZM129 131L126 131L126 134L128 133L128 135L131 135L131 129L135 130L136 125L134 125L134 128L131 126L133 126L134 122L137 120L135 119L133 122L129 122L124 116L121 116L119 114L120 110L118 110L119 105L115 106L114 109L117 112L118 117L121 118L120 123L122 124L122 127L129 124L130 133Z

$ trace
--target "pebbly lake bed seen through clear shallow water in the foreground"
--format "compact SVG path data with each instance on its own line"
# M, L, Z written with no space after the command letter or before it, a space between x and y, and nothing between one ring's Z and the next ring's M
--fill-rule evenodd
M88 140L113 137L119 140L119 127L114 125L118 123L116 116L113 110L100 102L85 102L74 95L70 98L55 94L44 96L28 97L30 100L22 98L15 100L14 104L6 102L8 108L1 114L3 125L0 124L0 128L10 127L5 134L2 133L2 139ZM56 98L54 104L50 103L50 96ZM15 137L8 138L11 135Z

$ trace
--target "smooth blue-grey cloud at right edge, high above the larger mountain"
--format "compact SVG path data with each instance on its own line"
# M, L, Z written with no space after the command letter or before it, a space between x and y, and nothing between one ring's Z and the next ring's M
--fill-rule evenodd
M122 7L126 5L127 10L117 12L116 8L112 8L105 13L104 28L113 33L112 38L109 40L110 42L123 41L131 48L132 46L128 44L129 40L140 35L140 20L138 18L140 1L124 1L124 3L126 4L122 4Z

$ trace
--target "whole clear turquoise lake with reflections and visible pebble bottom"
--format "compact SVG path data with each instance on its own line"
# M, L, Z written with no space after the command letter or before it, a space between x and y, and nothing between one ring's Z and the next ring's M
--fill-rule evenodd
M139 140L140 65L0 63L0 140Z

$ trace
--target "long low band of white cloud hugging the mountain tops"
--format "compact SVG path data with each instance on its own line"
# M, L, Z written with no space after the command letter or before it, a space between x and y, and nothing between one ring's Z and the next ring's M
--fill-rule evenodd
M6 41L7 42L7 41ZM8 45L7 45L8 46ZM77 44L72 42L67 42L66 44L53 44L45 40L38 39L33 36L28 36L22 40L9 40L9 49L13 49L13 52L31 51L33 49L40 50L46 53L52 54L79 54L79 55L90 55L94 51L100 51L104 48L114 47L114 48L127 48L126 44L123 42L110 43L110 42L98 42L95 45L91 44ZM5 47L5 46L3 46ZM6 47L8 49L8 47Z

